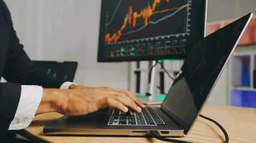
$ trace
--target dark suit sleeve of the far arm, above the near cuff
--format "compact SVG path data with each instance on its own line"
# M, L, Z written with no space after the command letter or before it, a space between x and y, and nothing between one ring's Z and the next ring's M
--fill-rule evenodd
M48 88L58 88L60 82L47 81L47 79L40 78L38 69L27 56L23 49L23 45L19 43L16 31L14 30L11 15L9 10L5 9L7 23L10 24L9 33L9 51L6 57L6 66L4 67L3 77L8 82L14 82L24 85L40 85Z

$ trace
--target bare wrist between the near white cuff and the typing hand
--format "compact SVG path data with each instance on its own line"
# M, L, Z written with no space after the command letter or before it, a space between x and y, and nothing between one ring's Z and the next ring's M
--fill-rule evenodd
M37 114L57 112L58 107L64 104L66 91L63 89L43 89L42 100L37 109Z

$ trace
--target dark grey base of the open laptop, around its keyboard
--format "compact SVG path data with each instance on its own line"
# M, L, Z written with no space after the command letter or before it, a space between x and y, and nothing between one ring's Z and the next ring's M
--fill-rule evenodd
M160 126L113 126L108 125L113 109L102 109L99 112L83 116L64 116L53 122L44 124L44 134L74 136L141 136L150 135L150 131L159 132L162 137L183 137L184 129L173 122L160 108L152 107L163 119Z

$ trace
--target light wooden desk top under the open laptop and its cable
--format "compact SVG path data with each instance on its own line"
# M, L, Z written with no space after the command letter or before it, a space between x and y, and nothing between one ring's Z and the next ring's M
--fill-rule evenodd
M229 134L230 142L256 142L256 109L206 105L202 114L216 119ZM49 137L42 133L46 122L62 117L58 113L41 114L21 134L29 139L45 142L161 142L144 137ZM213 123L198 118L191 133L178 139L190 142L223 142L224 136Z

